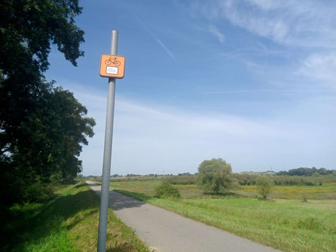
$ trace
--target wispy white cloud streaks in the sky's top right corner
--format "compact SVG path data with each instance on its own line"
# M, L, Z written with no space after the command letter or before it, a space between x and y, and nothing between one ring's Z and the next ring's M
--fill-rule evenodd
M224 18L280 44L336 47L336 2L218 0L192 8L209 19Z

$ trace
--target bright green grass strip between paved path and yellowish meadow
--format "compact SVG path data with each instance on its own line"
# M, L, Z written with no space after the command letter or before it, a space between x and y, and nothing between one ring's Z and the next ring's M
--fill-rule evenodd
M286 252L336 251L336 201L281 200L262 202L251 198L158 199L137 191L114 191L218 227L252 241ZM146 186L144 186L146 187ZM193 188L189 186L189 188Z

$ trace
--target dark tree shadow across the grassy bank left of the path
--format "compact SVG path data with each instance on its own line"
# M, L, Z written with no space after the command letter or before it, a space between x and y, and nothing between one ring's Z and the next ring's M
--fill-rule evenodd
M81 186L81 185L77 185ZM83 186L86 186L84 184ZM76 186L75 186L76 187ZM98 211L99 198L92 191L83 191L75 195L59 196L53 201L38 205L36 208L23 210L20 215L21 219L15 219L14 214L12 221L9 221L3 231L3 242L0 251L25 251L25 244L38 243L46 239L52 232L57 232L62 227L62 222L76 215L82 210L88 210L87 215L94 214ZM32 212L37 214L32 214ZM80 220L75 220L67 228L71 228Z

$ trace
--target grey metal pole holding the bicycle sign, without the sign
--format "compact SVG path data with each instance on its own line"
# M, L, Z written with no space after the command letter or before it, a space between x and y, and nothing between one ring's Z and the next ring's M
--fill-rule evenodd
M117 51L118 51L118 31L113 30L111 36L111 54L117 55ZM116 94L116 79L109 78L97 252L106 251L107 214L109 207L115 94Z

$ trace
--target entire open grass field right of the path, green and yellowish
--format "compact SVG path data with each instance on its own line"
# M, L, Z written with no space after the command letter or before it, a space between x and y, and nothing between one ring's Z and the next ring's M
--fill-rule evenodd
M180 200L152 197L160 181L111 182L111 189L282 251L336 251L336 183L275 186L269 201L256 186L225 196L175 185ZM303 197L307 202L303 202Z

